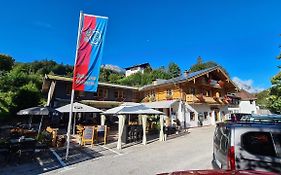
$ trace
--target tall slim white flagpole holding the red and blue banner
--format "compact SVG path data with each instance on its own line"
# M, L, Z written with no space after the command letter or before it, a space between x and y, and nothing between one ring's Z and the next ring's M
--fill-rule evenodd
M77 43L76 43L76 53L75 53L75 61L74 61L74 67L76 65L77 57L78 57L78 49L79 49L79 42L80 42L80 32L81 32L81 21L82 21L83 12L80 11L80 17L79 17L79 27L77 32ZM72 80L72 85L74 78ZM70 99L70 112L69 112L69 119L68 119L68 127L67 127L67 146L66 146L66 154L65 154L65 160L68 159L69 154L69 144L70 144L70 130L71 130L71 123L72 123L72 113L73 113L73 101L74 101L74 95L75 91L72 86L71 91L71 99Z

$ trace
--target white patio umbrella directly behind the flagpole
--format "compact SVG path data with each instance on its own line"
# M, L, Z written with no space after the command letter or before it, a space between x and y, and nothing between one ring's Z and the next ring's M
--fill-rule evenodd
M71 104L56 108L57 111L61 112L61 113L68 113L70 112L70 106ZM84 105L82 103L78 103L75 102L73 103L73 112L76 113L101 113L103 112L100 109L94 108L92 106L88 106L88 105ZM102 117L103 120L105 120L105 118ZM74 115L74 120L73 120L73 134L75 133L75 115ZM104 123L104 121L102 121L102 123Z

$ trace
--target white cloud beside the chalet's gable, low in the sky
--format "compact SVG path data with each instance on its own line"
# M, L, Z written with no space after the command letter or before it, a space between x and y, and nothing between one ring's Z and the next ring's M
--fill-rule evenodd
M261 87L254 87L253 83L254 81L252 79L249 80L241 80L238 77L233 77L232 81L240 88L244 89L250 93L258 93L260 91L263 91L264 88Z

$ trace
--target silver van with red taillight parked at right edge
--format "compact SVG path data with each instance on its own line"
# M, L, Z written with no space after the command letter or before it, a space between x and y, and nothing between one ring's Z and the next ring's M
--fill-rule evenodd
M213 167L281 173L278 120L281 121L281 116L253 116L247 121L218 123L214 132Z

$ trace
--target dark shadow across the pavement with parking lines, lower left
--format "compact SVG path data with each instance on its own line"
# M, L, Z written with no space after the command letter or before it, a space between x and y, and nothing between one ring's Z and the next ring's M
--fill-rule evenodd
M59 155L59 157L61 157L61 160L66 166L115 154L111 151L108 151L106 147L98 145L93 146L93 148L91 146L81 147L77 144L71 145L68 160L65 160L65 147L56 148L53 150L57 155ZM18 163L16 158L12 157L9 158L9 161L7 161L0 155L1 175L37 175L63 167L64 166L49 149L36 153L33 159L30 157L24 157L20 163Z

